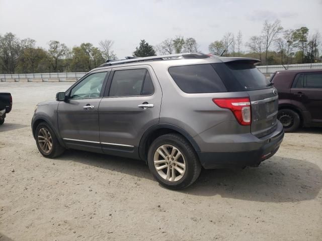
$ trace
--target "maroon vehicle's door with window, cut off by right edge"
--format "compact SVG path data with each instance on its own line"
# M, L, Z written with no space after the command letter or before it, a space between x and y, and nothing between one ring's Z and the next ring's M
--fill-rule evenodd
M312 122L322 122L322 73L297 74L291 95L293 100L304 104L311 114Z

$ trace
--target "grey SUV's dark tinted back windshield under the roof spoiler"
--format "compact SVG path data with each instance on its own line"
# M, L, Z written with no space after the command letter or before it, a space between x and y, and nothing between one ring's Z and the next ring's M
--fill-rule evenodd
M228 91L271 88L269 80L253 63L232 61L212 64Z

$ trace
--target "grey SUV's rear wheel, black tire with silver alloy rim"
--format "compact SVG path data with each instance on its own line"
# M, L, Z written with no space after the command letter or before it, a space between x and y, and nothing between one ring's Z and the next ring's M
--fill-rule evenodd
M162 186L173 190L190 186L197 180L201 171L195 150L179 134L167 134L156 138L149 148L147 163L154 178ZM162 169L157 171L156 168Z

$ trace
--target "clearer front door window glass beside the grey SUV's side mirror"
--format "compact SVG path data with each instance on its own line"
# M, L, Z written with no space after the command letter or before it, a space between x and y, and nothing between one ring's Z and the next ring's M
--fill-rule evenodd
M87 99L100 97L106 72L94 73L83 79L70 91L70 99Z

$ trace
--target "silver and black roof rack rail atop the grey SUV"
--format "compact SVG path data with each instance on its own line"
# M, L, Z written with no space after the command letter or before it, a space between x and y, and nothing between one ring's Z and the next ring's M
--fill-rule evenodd
M105 62L99 67L111 66L116 64L136 63L136 62L143 62L143 61L158 61L158 60L170 60L170 59L179 59L179 58L205 59L209 57L210 57L209 55L202 54L202 53L168 54L168 55L150 56L150 57L143 57L143 58L125 57L126 59Z

